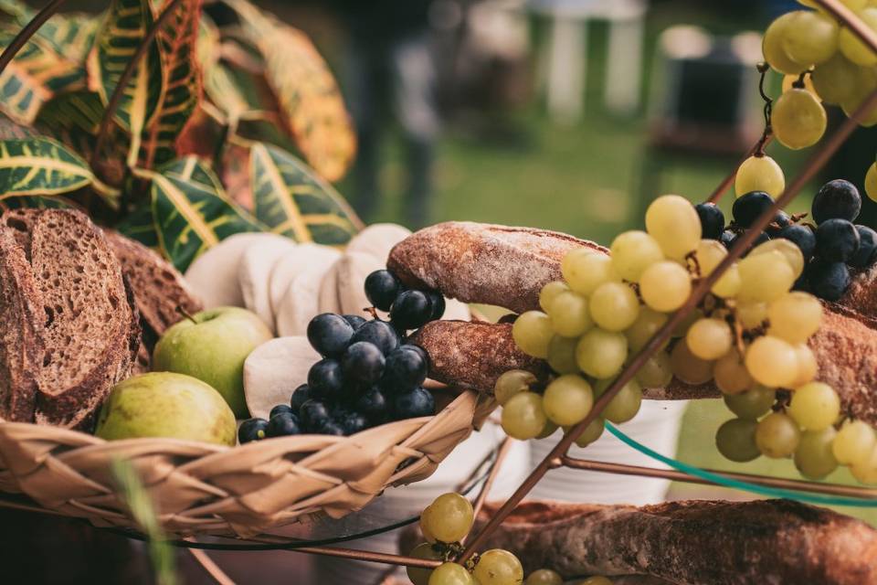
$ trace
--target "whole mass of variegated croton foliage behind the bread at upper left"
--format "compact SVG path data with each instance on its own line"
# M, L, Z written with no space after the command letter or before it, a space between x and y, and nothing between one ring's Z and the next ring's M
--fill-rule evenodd
M203 3L165 15L170 0L111 0L104 15L49 18L0 74L0 207L85 207L181 270L242 231L352 237L361 223L328 181L354 134L322 58L247 0L208 3L221 27ZM35 14L0 0L0 48Z

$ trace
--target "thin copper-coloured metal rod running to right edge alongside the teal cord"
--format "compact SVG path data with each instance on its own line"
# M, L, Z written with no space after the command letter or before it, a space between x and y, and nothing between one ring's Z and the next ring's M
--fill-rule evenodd
M567 455L561 458L561 463L565 467L569 467L572 469L583 469L591 472L617 473L618 475L639 475L639 477L657 477L660 479L670 479L676 482L685 482L688 484L721 485L717 482L713 482L703 477L695 477L693 475L689 475L688 473L676 471L674 469L660 469L657 467L643 467L640 465L627 465L624 463L591 461L587 459L576 459L575 457L569 457ZM766 475L758 475L755 473L724 472L715 469L704 469L703 471L713 473L715 475L721 475L722 477L734 479L741 482L748 482L755 485L765 485L766 487L777 487L780 489L795 490L796 492L812 492L816 494L826 495L846 495L866 500L877 499L877 490L868 489L866 487L857 487L855 485L820 484L819 482L807 482L798 479L769 477Z

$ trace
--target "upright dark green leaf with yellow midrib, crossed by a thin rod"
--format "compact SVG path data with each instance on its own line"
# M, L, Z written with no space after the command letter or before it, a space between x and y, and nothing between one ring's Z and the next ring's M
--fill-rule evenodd
M110 10L95 38L89 59L90 79L100 100L107 104L122 78L122 72L153 25L149 0L112 0ZM164 99L162 58L157 43L151 43L132 80L122 94L115 118L132 135L131 164L140 154L143 131L152 122Z

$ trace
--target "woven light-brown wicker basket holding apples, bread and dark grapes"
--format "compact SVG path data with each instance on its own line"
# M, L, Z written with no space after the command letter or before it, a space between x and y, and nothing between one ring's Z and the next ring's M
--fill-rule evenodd
M229 448L173 439L103 441L0 423L0 491L97 526L136 527L116 495L113 460L131 462L169 534L252 537L324 513L360 510L391 485L428 477L494 404L472 391L439 414L351 437L301 435ZM441 400L439 399L439 404Z

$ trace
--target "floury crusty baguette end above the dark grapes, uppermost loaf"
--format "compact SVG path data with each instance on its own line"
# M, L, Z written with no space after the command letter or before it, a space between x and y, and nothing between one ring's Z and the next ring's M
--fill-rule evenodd
M556 231L449 221L396 244L386 266L408 286L523 313L539 308L539 291L561 278L566 252L581 247L607 251Z

